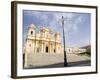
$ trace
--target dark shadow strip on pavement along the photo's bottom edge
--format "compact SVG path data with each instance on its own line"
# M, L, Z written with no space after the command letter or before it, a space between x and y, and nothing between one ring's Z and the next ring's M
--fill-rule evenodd
M68 62L67 67L77 67L77 66L91 66L91 61L90 60L85 60L85 61L77 61L77 62ZM51 64L51 65L46 65L46 66L35 66L32 65L29 68L24 68L24 69L37 69L37 68L62 68L64 67L64 63L57 63L57 64Z

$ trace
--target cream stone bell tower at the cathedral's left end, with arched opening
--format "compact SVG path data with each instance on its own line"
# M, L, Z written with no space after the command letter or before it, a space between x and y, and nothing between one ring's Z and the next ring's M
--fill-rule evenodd
M32 39L35 37L35 25L31 24L28 27L26 44L25 44L25 54L24 54L24 67L27 67L30 63L28 59L30 55L34 52L34 43Z

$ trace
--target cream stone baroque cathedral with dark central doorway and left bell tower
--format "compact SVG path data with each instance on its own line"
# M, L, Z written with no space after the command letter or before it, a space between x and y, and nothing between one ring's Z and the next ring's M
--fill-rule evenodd
M34 24L28 27L27 37L24 45L24 63L30 63L28 59L34 54L58 54L62 53L61 37L59 32L50 28L38 29ZM34 59L33 59L34 60ZM31 59L32 61L32 59Z

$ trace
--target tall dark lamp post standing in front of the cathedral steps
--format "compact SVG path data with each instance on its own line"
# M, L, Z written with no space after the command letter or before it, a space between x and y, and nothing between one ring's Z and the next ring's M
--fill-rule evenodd
M65 49L65 31L64 31L64 17L62 16L62 29L63 29L63 45L64 45L64 67L68 66L67 63L67 56L66 56L66 49Z

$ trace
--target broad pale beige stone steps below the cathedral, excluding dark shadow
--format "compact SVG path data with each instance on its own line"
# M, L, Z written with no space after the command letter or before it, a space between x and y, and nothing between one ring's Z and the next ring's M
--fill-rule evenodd
M79 56L77 54L67 54L68 62L77 62L77 61L85 61L90 60L88 56ZM63 54L55 54L55 53L35 53L28 55L27 57L27 65L28 67L41 67L52 64L64 63L64 55Z

